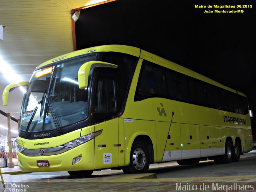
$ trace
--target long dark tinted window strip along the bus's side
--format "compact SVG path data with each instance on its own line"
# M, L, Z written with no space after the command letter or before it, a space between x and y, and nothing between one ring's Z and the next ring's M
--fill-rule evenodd
M134 101L156 97L244 115L249 111L244 96L143 60Z

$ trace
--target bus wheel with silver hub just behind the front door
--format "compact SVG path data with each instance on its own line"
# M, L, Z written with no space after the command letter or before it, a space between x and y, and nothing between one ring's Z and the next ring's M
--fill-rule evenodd
M125 174L146 173L149 168L149 153L143 142L135 142L132 145L130 164L122 170Z

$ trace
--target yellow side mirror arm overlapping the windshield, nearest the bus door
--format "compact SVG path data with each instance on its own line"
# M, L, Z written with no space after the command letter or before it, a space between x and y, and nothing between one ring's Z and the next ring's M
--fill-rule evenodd
M89 72L96 67L117 68L118 66L112 63L102 61L88 61L84 63L78 70L78 84L80 89L88 87Z

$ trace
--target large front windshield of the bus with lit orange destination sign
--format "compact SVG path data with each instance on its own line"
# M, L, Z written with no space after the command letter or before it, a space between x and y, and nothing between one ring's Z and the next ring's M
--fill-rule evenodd
M89 55L36 70L24 96L20 129L43 132L84 120L88 116L89 88L79 89L78 70L96 58Z

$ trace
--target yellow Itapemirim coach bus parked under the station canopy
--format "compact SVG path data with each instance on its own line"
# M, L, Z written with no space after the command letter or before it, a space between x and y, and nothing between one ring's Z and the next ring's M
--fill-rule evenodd
M22 102L24 172L146 173L150 163L239 161L252 150L246 96L140 48L104 45L39 65Z

